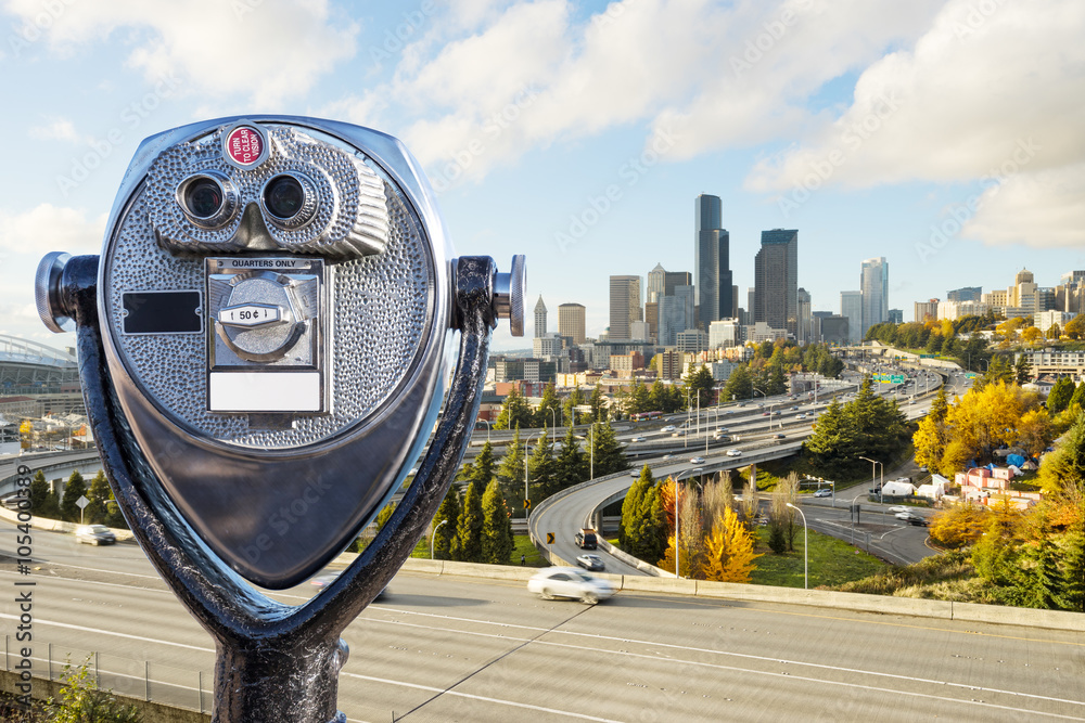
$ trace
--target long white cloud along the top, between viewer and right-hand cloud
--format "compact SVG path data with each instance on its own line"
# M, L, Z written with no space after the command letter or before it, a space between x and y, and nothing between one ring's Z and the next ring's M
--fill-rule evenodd
M431 167L467 158L481 143L485 151L469 153L464 169L476 177L531 149L630 122L654 122L647 142L659 131L677 134L676 155L693 156L802 129L810 93L880 57L886 44L911 42L936 4L623 0L579 22L565 0L480 2L481 29L461 37L454 22L460 35L438 42L436 28L450 30L437 18L404 49L394 80L336 107L381 127L395 125L388 117L421 117L400 134ZM768 47L736 69L762 36ZM495 132L503 112L516 119Z

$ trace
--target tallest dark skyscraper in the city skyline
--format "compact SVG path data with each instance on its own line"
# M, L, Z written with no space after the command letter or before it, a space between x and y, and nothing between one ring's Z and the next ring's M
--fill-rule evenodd
M693 267L697 274L698 323L735 315L730 267L730 234L720 228L719 196L702 193L693 206Z

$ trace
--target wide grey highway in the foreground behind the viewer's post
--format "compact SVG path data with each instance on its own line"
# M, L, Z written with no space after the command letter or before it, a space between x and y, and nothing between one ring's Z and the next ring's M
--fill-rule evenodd
M149 660L153 697L197 705L210 638L137 547L37 532L35 548L36 657L100 650L103 685L136 695ZM1036 628L629 592L585 606L400 572L345 638L350 721L1085 720L1085 641Z

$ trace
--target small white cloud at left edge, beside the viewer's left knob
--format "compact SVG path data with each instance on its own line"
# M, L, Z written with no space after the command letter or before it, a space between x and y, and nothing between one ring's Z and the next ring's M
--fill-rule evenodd
M0 211L0 249L40 257L49 251L95 254L102 248L106 216L87 218L74 208L41 204L28 211Z

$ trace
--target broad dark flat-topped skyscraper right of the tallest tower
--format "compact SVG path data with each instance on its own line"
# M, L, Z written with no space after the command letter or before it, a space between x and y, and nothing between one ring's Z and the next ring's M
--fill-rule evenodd
M754 257L754 323L799 332L799 231L761 232L761 250Z

